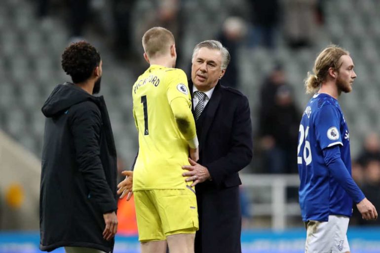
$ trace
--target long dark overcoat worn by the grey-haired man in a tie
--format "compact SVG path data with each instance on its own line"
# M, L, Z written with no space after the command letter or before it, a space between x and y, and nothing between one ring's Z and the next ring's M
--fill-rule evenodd
M191 94L192 87L189 81ZM238 171L252 159L247 97L218 83L196 125L198 162L208 168L212 180L195 187L199 215L195 253L240 253Z

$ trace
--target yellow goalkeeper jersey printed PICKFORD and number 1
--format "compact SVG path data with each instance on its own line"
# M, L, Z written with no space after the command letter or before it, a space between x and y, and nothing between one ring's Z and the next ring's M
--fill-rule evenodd
M196 129L185 72L151 65L133 85L132 97L139 132L133 190L186 188L182 166L189 164L187 140L196 138Z

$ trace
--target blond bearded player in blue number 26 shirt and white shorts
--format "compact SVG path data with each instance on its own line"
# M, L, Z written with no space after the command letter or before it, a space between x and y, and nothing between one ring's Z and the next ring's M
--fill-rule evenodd
M317 57L305 81L309 100L299 129L300 206L307 235L305 252L349 252L352 201L363 219L377 219L374 205L351 177L349 130L338 97L356 78L349 53L332 45Z

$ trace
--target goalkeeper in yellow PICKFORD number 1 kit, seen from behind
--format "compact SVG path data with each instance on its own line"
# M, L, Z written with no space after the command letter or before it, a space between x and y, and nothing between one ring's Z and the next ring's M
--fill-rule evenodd
M198 214L195 191L183 180L188 157L198 160L198 139L191 113L186 74L174 68L173 34L154 27L143 36L150 67L133 85L133 116L139 153L133 171L133 194L142 253L193 253ZM132 172L119 184L130 191Z

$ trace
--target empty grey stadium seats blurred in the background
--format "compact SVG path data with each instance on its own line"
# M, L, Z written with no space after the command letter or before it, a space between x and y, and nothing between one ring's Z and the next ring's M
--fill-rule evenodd
M200 2L204 11L196 11ZM178 63L180 67L189 67L196 42L212 38L220 30L228 15L226 6L234 8L242 2L183 2L185 32L183 45L179 47L183 48L184 59ZM70 81L60 67L60 54L68 45L69 32L59 16L38 20L30 1L4 0L0 6L0 127L39 157L44 119L39 113L40 107L56 84ZM355 156L363 136L380 127L377 120L380 116L380 71L377 70L380 63L377 50L380 46L380 15L376 11L379 7L377 0L361 0L360 4L354 0L324 1L326 24L316 31L317 39L311 48L293 51L280 35L273 51L241 47L238 55L242 80L240 89L250 99L254 128L257 126L259 87L274 63L285 63L287 78L295 88L300 108L303 108L308 100L303 88L307 71L312 70L315 56L321 48L330 42L337 43L351 52L358 74L352 94L341 99L354 144L351 146L352 155ZM137 28L143 27L137 17L144 15L147 8L154 8L150 0L137 1L133 16ZM130 164L137 149L130 91L136 76L126 66L114 61L108 45L99 36L89 38L100 48L104 59L101 93L108 102L118 153ZM141 50L139 43L140 40L136 40L131 50Z

